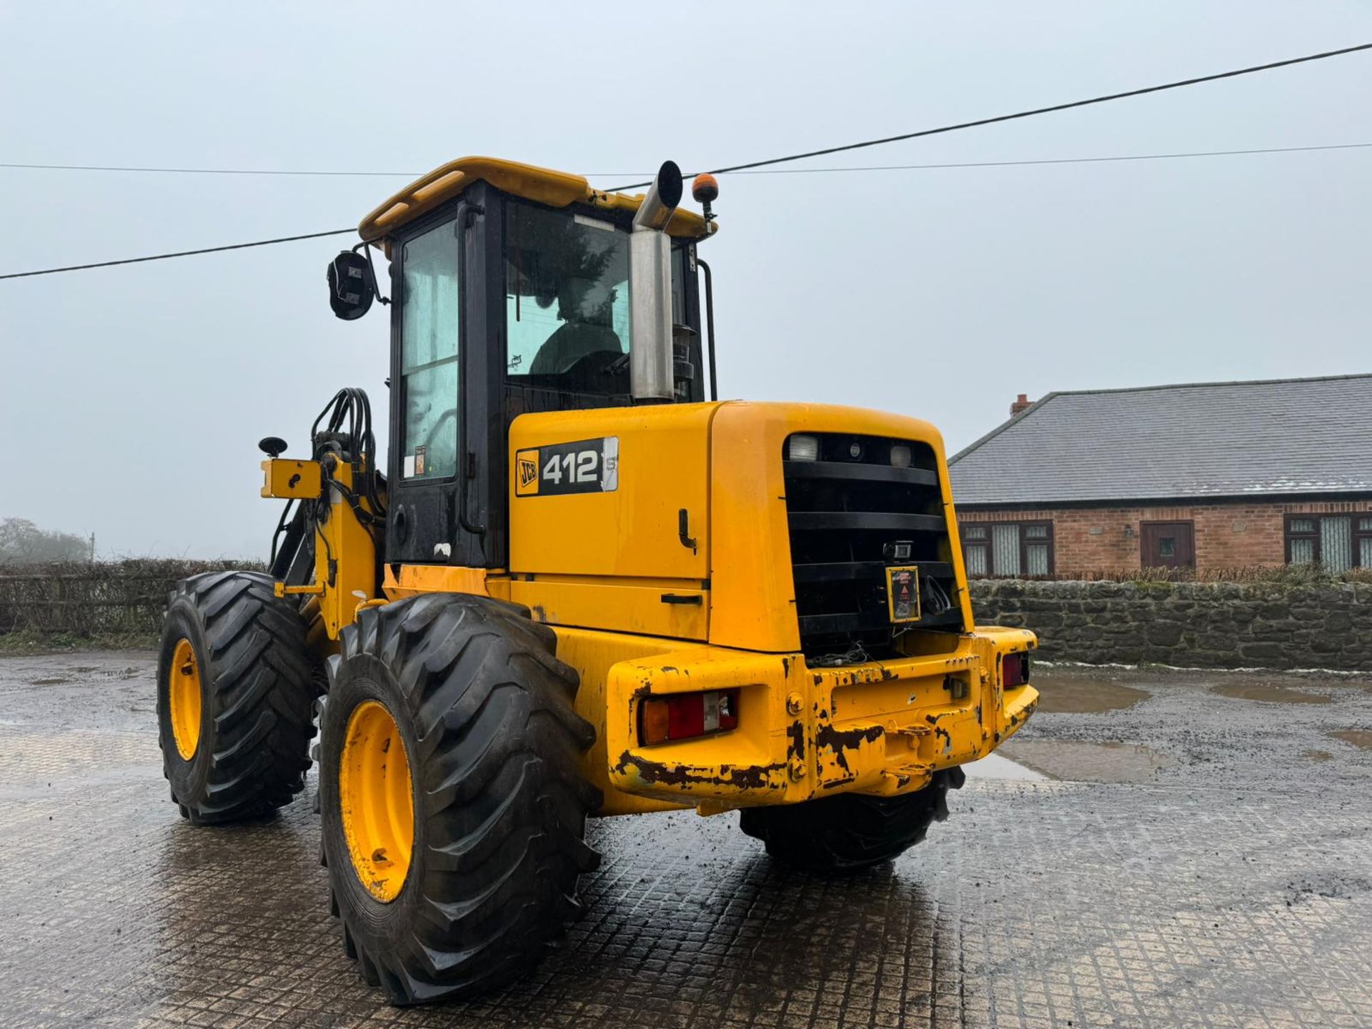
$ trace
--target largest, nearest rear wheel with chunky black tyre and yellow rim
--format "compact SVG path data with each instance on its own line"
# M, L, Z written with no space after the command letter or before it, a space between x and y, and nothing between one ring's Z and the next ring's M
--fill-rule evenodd
M427 594L368 608L329 661L322 862L362 977L395 1006L528 974L580 912L601 793L576 671L527 612ZM399 760L397 760L399 757Z

